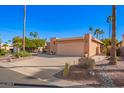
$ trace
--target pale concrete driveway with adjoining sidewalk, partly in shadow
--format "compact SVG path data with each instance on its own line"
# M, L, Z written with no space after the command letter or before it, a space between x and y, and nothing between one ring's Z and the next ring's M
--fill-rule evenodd
M38 79L45 84L57 86L80 86L81 83L66 81L54 77L61 71L65 63L76 64L79 57L57 57L54 55L41 54L18 62L0 62L0 65L12 71L26 75L29 78Z

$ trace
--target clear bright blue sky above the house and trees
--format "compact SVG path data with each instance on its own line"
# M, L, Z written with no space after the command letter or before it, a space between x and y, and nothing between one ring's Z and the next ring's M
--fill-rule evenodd
M37 31L41 38L78 37L89 32L89 27L101 28L108 37L107 16L112 6L27 6L27 28ZM0 34L3 41L22 36L23 6L0 6ZM124 34L124 6L117 6L117 38Z

